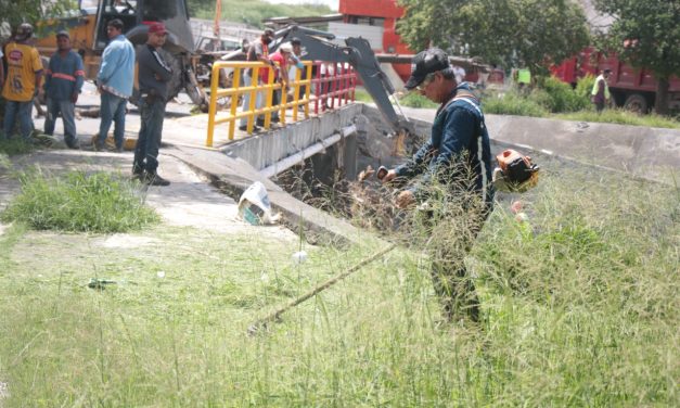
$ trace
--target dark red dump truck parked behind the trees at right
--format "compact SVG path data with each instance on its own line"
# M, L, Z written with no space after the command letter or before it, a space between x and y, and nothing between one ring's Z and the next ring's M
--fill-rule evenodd
M551 68L552 74L565 82L576 85L578 78L588 74L598 75L601 69L612 69L610 91L617 106L631 111L647 112L654 106L656 78L649 69L633 68L620 62L616 55L605 55L588 48L578 55ZM668 107L680 109L680 78L670 77Z

